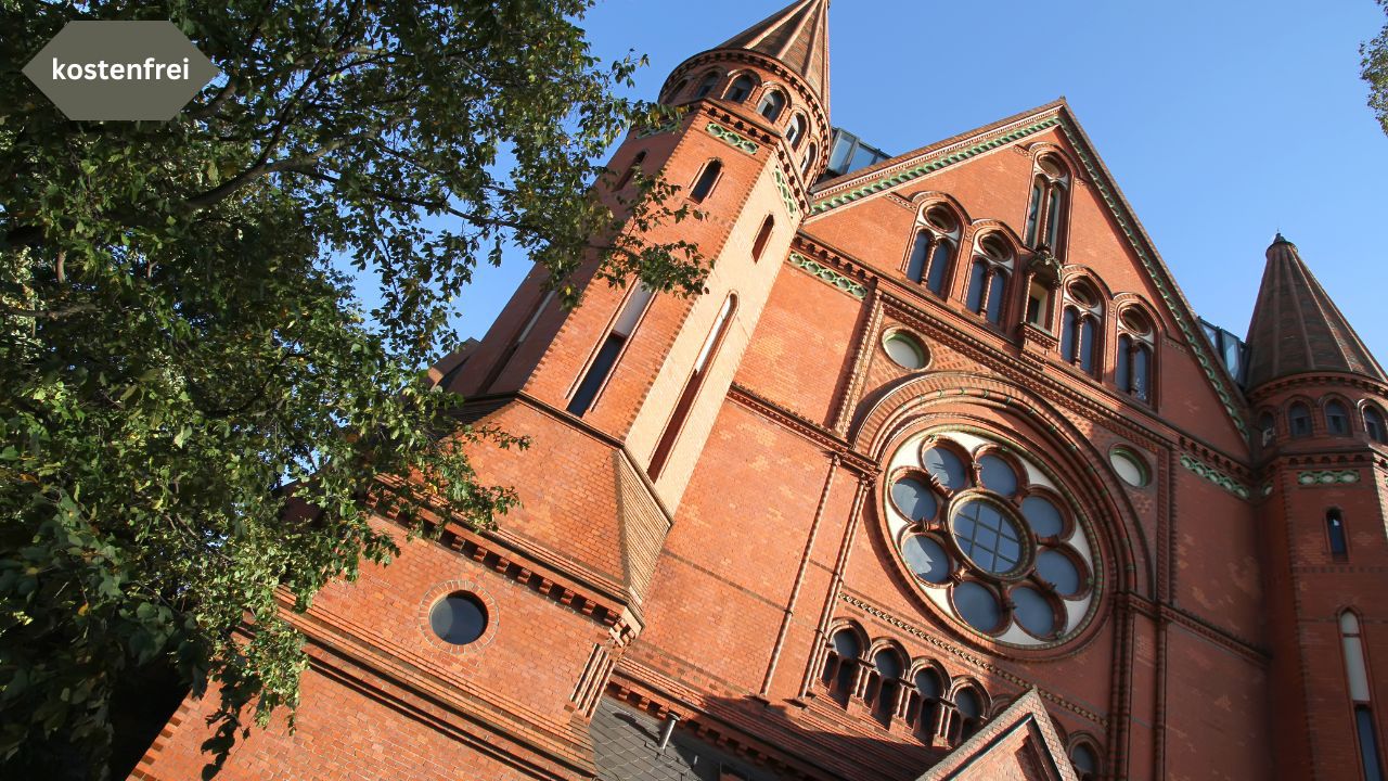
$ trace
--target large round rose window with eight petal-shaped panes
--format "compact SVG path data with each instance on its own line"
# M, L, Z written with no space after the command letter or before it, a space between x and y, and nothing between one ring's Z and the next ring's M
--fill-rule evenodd
M963 627L1051 648L1088 623L1099 557L1033 460L974 434L917 434L891 456L883 506L920 592Z

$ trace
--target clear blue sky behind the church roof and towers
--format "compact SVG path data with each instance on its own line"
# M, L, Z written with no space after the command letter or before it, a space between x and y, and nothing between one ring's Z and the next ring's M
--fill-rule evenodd
M650 56L652 99L688 56L788 0L600 0L604 58ZM892 154L1065 96L1177 283L1242 335L1281 229L1388 360L1388 138L1364 106L1371 0L938 3L838 0L833 122ZM458 327L482 336L527 271L479 270Z

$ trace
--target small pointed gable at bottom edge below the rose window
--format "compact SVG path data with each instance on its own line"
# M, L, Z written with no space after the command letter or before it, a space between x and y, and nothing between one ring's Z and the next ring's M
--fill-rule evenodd
M987 778L1078 781L1035 689L1017 698L917 781Z

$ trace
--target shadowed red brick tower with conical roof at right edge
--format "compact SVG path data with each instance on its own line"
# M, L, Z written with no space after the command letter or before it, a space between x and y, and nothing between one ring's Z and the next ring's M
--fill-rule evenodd
M1382 778L1388 378L1280 233L1248 345L1277 767Z

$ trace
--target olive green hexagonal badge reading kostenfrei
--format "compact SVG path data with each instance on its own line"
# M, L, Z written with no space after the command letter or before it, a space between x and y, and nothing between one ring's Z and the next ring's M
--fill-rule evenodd
M221 75L172 22L68 22L24 67L68 120L172 120Z

